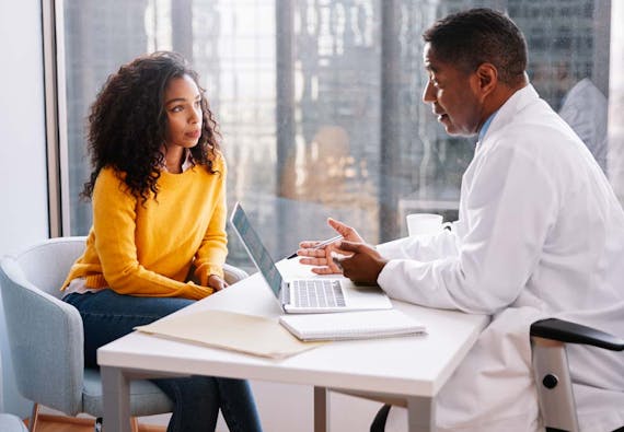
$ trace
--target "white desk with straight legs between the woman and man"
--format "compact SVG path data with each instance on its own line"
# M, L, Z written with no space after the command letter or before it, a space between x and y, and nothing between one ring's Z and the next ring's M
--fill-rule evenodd
M294 266L288 262L280 267L294 276L301 267ZM327 430L327 389L403 399L408 410L409 431L432 431L432 401L488 318L393 303L423 322L428 334L332 342L279 361L138 332L117 339L97 350L104 386L105 430L129 432L130 380L194 374L312 385L316 432ZM281 312L258 273L176 314L199 310L263 316L278 316Z

